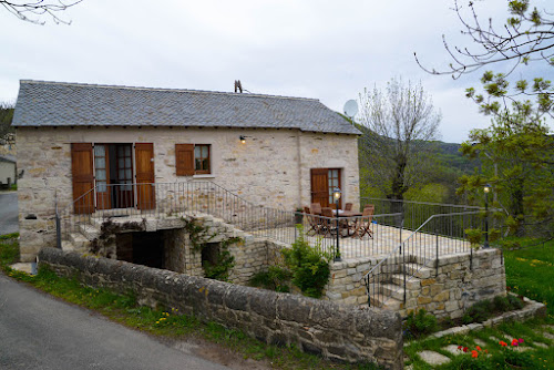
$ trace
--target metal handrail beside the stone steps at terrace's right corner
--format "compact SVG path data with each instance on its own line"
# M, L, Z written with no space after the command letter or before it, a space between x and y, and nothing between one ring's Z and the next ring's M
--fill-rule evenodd
M464 230L482 228L484 222L482 210L431 215L363 276L368 305L382 307L391 297L406 304L409 281L427 276L420 273L429 266L437 276L443 256L469 253L471 268L473 248Z

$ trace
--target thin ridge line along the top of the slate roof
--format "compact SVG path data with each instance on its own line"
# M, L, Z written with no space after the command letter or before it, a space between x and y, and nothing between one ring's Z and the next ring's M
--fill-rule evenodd
M243 93L234 93L234 92L209 91L209 90L194 90L194 89L126 86L126 85L109 85L109 84L80 83L80 82L59 82L59 81L44 81L44 80L20 80L20 83L40 83L40 84L83 86L83 88L101 88L101 89L124 89L124 90L145 90L145 91L192 92L192 93L232 95L232 96L244 96L244 97L275 97L275 99L300 100L300 101L306 100L306 101L319 102L319 99L316 99L316 97L299 97L299 96L284 96L284 95L268 95L268 94L253 94L253 93L243 94Z

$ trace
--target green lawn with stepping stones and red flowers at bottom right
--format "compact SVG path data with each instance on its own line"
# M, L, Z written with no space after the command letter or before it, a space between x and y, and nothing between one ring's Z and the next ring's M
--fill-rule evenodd
M413 369L554 369L554 241L519 241L523 248L504 253L507 288L544 302L547 317L523 323L506 322L464 336L412 341L406 347L407 364ZM523 342L514 347L513 339L523 339ZM506 346L501 346L500 341ZM455 354L445 350L448 346L453 346ZM423 350L439 352L451 361L433 368L418 356ZM476 358L472 357L472 350L476 351Z

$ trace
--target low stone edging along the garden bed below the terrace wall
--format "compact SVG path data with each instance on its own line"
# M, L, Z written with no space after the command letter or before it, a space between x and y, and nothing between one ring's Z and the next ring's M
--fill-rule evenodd
M429 338L442 338L445 336L451 336L451 335L464 335L473 330L481 330L483 328L491 328L494 327L501 322L505 321L523 321L526 320L533 316L545 316L546 315L546 306L534 301L532 299L529 299L526 297L523 297L523 301L527 304L525 307L522 309L515 310L515 311L510 311L510 312L504 312L501 316L493 317L484 322L478 323L469 323L469 325L462 325L460 327L455 328L450 328L447 330L442 330L439 332L435 332ZM404 343L404 347L409 346L411 342Z

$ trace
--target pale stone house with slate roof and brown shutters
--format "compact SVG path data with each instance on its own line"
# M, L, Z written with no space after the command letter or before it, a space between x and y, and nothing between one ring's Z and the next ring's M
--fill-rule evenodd
M55 245L57 204L155 207L133 184L207 178L287 210L326 205L336 186L359 199L360 132L314 99L23 80L13 126L23 261Z

